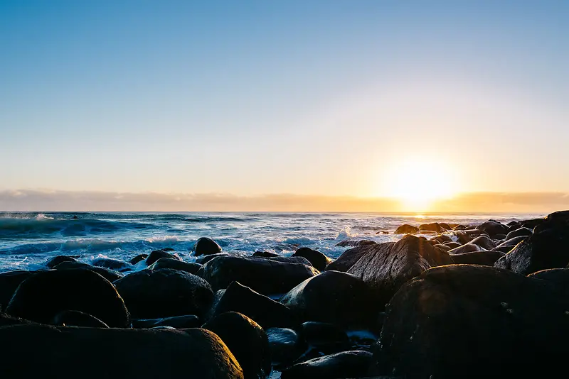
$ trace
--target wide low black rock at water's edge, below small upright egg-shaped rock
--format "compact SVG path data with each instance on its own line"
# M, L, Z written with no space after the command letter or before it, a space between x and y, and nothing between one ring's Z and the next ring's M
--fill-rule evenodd
M218 257L198 271L213 290L240 282L262 295L282 294L319 272L312 266L282 263L265 258Z

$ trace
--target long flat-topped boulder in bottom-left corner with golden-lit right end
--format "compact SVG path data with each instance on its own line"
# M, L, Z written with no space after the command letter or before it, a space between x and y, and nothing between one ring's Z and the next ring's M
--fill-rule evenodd
M227 346L204 329L18 325L0 328L0 340L10 341L0 355L2 378L243 379ZM102 352L104 362L93 364Z

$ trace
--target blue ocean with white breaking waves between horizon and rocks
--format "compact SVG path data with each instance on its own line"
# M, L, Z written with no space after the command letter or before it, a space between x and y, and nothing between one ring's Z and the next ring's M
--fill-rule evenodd
M77 216L77 219L73 219ZM140 253L174 248L188 262L200 237L217 241L223 251L270 251L290 256L307 246L337 258L346 239L395 241L401 224L428 222L504 223L545 214L376 214L376 213L0 213L0 272L36 270L51 256L129 260ZM388 232L388 234L382 233Z

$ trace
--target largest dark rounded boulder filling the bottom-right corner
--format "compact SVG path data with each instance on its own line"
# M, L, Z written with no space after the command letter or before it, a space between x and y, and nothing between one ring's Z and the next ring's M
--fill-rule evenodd
M565 370L567 309L543 280L479 265L432 268L391 299L373 374L546 378Z

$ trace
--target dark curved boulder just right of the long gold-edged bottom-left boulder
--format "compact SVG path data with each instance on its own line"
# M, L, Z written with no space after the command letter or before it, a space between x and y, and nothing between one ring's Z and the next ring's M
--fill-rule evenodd
M245 379L265 378L271 372L269 340L265 330L249 317L227 312L203 324L213 331L233 353L243 368Z

